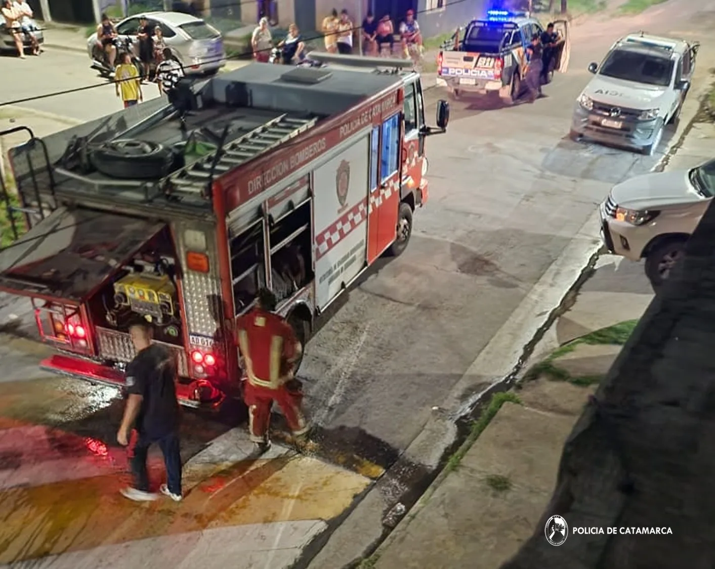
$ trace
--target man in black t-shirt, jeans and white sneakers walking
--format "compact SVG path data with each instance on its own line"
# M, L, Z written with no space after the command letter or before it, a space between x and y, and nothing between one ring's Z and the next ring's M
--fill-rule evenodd
M137 350L127 366L127 407L117 440L129 444L132 425L137 430L137 444L132 455L134 487L122 494L130 500L156 500L149 492L147 452L154 442L164 455L167 484L160 490L172 500L182 499L181 455L179 454L179 422L181 419L176 392L176 360L165 347L152 344L152 327L146 320L129 327L129 335Z

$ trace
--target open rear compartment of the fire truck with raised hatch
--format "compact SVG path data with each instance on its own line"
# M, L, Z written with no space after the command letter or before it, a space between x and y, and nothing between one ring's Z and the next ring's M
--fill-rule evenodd
M61 207L0 252L0 289L30 297L41 338L66 353L46 369L123 385L115 368L134 357L128 328L144 317L187 377L174 259L166 224Z

